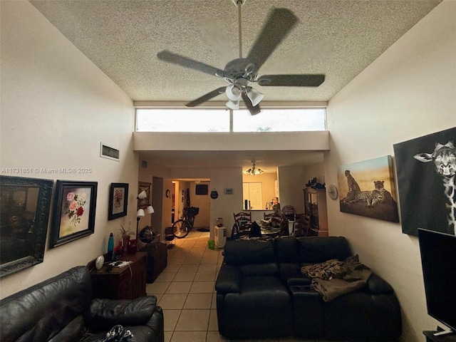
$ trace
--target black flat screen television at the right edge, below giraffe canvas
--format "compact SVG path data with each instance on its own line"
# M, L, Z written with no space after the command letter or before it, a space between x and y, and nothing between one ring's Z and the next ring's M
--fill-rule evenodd
M456 236L418 229L427 314L456 331Z

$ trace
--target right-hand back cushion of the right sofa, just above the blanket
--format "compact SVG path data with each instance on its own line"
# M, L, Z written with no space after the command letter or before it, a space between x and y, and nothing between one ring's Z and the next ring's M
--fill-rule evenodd
M299 237L299 261L316 264L330 259L345 260L351 249L345 237Z

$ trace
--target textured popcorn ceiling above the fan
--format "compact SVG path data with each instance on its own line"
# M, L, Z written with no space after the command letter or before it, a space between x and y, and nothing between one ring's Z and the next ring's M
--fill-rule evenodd
M260 87L264 101L327 101L441 0L247 0L243 56L269 10L299 18L259 74L323 73L318 88ZM239 56L232 0L30 1L133 100L190 101L222 78L159 61L167 49L224 68ZM224 100L220 95L214 100Z

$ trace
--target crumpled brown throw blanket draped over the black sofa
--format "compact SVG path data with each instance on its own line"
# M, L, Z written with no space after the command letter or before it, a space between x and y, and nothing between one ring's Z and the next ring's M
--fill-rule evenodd
M345 261L331 259L321 264L302 266L301 273L312 278L311 288L323 301L331 301L366 285L372 271L359 262L358 254Z

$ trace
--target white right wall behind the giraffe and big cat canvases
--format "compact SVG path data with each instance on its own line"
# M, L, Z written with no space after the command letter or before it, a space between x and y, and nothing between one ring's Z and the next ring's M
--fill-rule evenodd
M331 152L338 165L393 155L393 144L456 126L456 1L445 0L329 102ZM328 200L329 233L349 239L363 263L392 284L403 310L402 341L435 330L427 316L418 239L400 224L345 214Z

